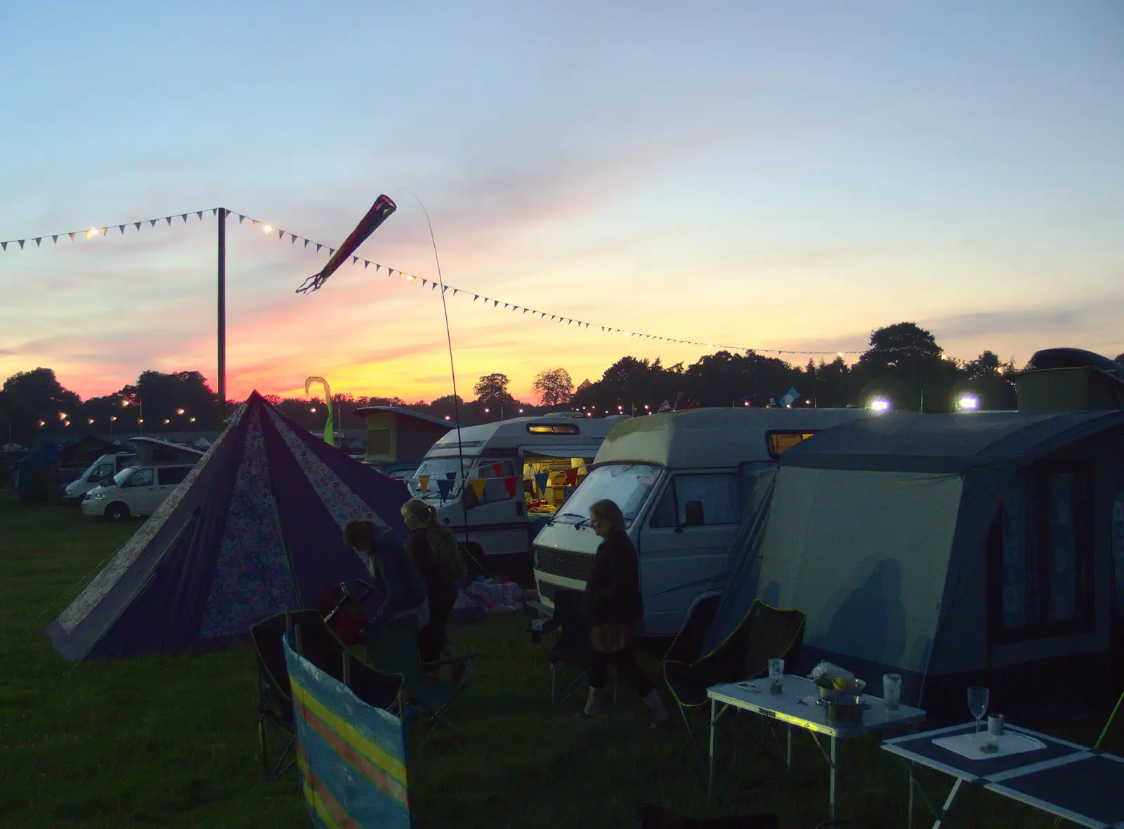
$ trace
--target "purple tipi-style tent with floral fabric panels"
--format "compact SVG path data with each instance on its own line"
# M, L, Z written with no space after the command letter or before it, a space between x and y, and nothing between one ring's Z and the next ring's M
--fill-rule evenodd
M366 571L342 538L405 536L406 486L328 446L257 392L160 509L47 628L69 661L216 647Z

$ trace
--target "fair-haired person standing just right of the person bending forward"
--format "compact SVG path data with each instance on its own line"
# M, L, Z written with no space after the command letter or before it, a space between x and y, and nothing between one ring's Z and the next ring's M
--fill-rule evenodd
M464 565L456 536L437 522L437 511L418 498L402 504L402 520L409 529L406 550L425 582L429 623L422 628L418 652L422 662L435 662L448 649L448 617L456 603L456 585Z

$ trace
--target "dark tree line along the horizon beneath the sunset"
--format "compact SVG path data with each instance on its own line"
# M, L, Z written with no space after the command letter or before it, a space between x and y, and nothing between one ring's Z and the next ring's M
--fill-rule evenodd
M1116 361L1124 365L1124 354ZM531 401L514 398L510 380L496 372L474 383L474 400L450 394L408 402L398 397L334 394L333 408L337 429L363 428L363 419L354 412L368 406L401 407L451 423L460 419L466 426L560 408L602 417L715 406L862 407L876 397L897 409L926 412L952 411L964 394L976 395L981 409L1014 409L1016 372L1013 359L1001 361L991 350L971 361L952 359L932 332L898 322L871 332L869 348L853 364L840 355L831 362L809 358L794 366L755 352L726 350L690 365L664 366L659 358L625 356L599 380L578 389L565 368L545 370L532 383ZM324 428L327 411L321 399L265 397L302 426ZM228 401L227 410L236 406L237 401ZM84 434L215 432L219 427L218 398L199 372L146 371L136 383L83 401L62 385L53 370L39 367L13 374L0 391L0 441L6 443Z

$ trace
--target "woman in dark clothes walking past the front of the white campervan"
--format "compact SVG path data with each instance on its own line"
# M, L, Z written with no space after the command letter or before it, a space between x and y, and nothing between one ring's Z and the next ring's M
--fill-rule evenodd
M589 508L589 523L604 540L586 583L586 611L589 617L592 665L589 669L589 695L584 717L598 713L608 666L632 685L655 714L654 728L667 728L671 716L652 681L636 664L636 645L644 627L644 598L640 590L640 561L625 517L615 501L597 501Z

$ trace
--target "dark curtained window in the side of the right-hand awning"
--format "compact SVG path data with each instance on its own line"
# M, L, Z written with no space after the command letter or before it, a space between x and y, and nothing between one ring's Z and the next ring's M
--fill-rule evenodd
M1094 532L1087 466L1044 464L1015 481L988 544L999 643L1091 629Z

